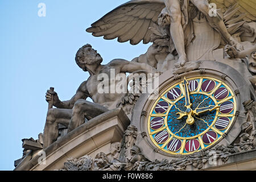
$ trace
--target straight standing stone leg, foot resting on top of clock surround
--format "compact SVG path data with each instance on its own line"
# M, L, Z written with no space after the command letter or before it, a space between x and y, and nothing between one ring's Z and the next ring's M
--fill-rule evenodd
M185 53L184 32L181 25L181 7L180 0L164 0L166 8L171 16L171 37L174 42L179 60L175 64L176 68L183 66L187 62L187 55Z

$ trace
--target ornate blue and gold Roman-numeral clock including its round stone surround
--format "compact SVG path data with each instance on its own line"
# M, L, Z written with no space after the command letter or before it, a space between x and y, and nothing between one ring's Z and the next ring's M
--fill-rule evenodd
M255 92L236 69L217 61L179 75L164 72L158 85L156 97L142 94L131 118L135 144L152 161L236 142L245 122L243 102Z

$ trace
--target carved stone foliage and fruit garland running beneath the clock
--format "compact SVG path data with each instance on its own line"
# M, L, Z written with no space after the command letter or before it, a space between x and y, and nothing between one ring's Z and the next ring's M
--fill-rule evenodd
M246 102L245 107L249 112L255 113L256 102ZM253 110L253 111L252 111ZM248 121L251 122L251 121ZM68 160L64 163L63 171L183 171L186 169L203 169L205 164L213 164L221 161L225 164L229 156L238 152L248 151L255 148L255 121L254 126L243 125L243 132L238 138L239 142L229 146L215 146L206 151L196 152L192 155L184 156L171 161L167 159L149 161L144 157L141 149L135 145L137 138L137 128L129 126L124 133L123 142L113 143L111 147L112 159L100 152L93 160L90 156L85 155L79 159ZM248 133L250 131L250 134ZM119 156L119 158L118 158Z

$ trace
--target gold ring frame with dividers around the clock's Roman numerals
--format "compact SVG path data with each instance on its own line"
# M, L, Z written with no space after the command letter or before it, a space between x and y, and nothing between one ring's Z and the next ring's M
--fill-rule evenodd
M201 90L201 85L203 84L203 80L204 80L204 79L207 79L207 80L214 80L214 81L215 81L215 87L214 87L214 89L213 89L212 91L210 91L210 92L204 92L204 91L202 90L202 91L200 92L200 90ZM189 77L189 78L187 78L187 81L191 81L191 80L196 80L196 81L197 81L197 80L200 80L200 81L199 81L199 84L198 84L197 89L195 89L193 92L189 93L190 95L193 95L193 94L204 94L205 96L208 96L210 99L212 99L213 102L214 102L214 104L216 104L216 105L221 105L223 102L229 101L229 100L233 99L233 106L234 106L234 107L233 107L233 110L232 110L232 111L234 111L234 113L236 112L236 110L237 110L237 101L236 101L236 97L235 97L235 95L234 95L233 90L232 90L232 89L230 88L230 86L227 85L224 81L222 81L222 80L220 80L220 79L218 79L218 78L209 77L209 76L194 76L194 77ZM216 85L216 81L219 83L218 85ZM221 114L220 111L219 111L219 109L216 109L216 116L215 116L213 122L211 123L210 126L208 126L208 129L205 130L205 131L203 131L202 133L200 133L200 134L198 134L198 135L196 135L196 136L194 136L194 137L179 137L179 136L175 135L176 133L175 133L175 134L172 133L172 132L170 131L170 129L168 128L168 125L167 125L167 118L168 118L167 116L168 116L168 113L170 112L171 108L172 108L173 106L175 106L176 102L178 102L179 100L181 100L182 98L185 97L185 96L184 96L184 88L183 88L182 83L183 83L183 79L181 78L181 81L175 82L174 84L172 84L172 86L168 87L167 89L164 89L164 91L162 92L162 94L160 94L160 96L158 97L158 99L157 99L157 100L154 102L154 104L151 106L150 114L148 115L148 118L146 119L146 121L147 121L147 133L148 133L148 135L150 136L151 142L154 143L154 145L155 145L156 147L158 147L160 151L166 152L167 154L171 154L171 155L189 155L189 154L193 154L193 153L195 153L195 152L199 152L199 151L201 151L201 150L204 150L204 149L206 149L206 148L209 148L209 147L214 146L214 144L220 142L220 140L224 137L224 135L225 135L226 133L228 133L228 131L230 130L230 128L233 126L233 122L234 122L234 120L235 120L235 114ZM181 90L181 93L182 93L182 94L177 98L176 101L171 101L171 100L168 99L167 97L164 97L164 95L166 95L171 89L175 88L177 85L180 86L180 90ZM229 94L230 94L231 96L229 96L229 97L227 96L227 97L224 98L223 100L218 101L216 98L214 98L214 93L216 92L217 89L220 88L221 85L224 85L225 88L228 89ZM162 100L168 102L168 104L169 104L168 110L167 110L165 113L162 113L162 114L151 114L152 111L154 111L155 106L158 104L158 102L160 101L160 99L162 99ZM231 101L231 102L232 102L232 101ZM155 131L153 131L153 132L150 131L150 128L151 128L151 127L150 127L150 121L151 121L151 118L152 118L152 117L164 117L164 125L162 126L162 128L160 128L160 129L158 129L158 130L155 130ZM229 118L232 118L232 119L229 119L229 120L230 120L229 125L226 127L224 133L222 133L222 130L218 130L218 129L216 129L216 128L214 127L214 126L215 126L215 123L216 123L216 121L217 121L217 119L220 118L220 117L229 117ZM208 144L208 146L205 147L205 146L204 146L204 142L203 142L203 140L201 139L201 137L202 137L205 133L207 133L210 129L212 129L214 132L216 132L217 134L219 134L220 137L218 137L214 142ZM158 145L158 143L155 142L155 140L154 140L154 138L152 137L152 135L154 135L154 134L156 134L156 133L158 133L158 132L160 132L160 131L163 131L163 130L167 130L167 131L168 131L169 137L168 137L167 141L164 142L164 144L160 147L160 146ZM180 152L179 152L179 153L177 153L177 151L176 151L176 152L172 152L172 151L170 151L170 150L164 150L164 148L167 146L167 144L168 144L172 139L174 139L174 138L180 139L181 142L182 142L181 148L180 148ZM199 140L201 150L196 150L196 151L184 153L184 150L185 150L185 143L187 143L187 141L188 141L189 139L197 139L197 140ZM199 148L200 148L200 147L199 147ZM178 151L179 151L179 150L178 150Z

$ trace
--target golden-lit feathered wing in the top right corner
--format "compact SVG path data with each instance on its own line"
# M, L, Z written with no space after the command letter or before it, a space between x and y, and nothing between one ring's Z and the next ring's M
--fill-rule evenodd
M216 3L217 9L226 11L233 6L229 14L240 15L242 20L251 22L256 20L256 1L255 0L210 0L209 3ZM236 11L237 9L237 11ZM226 15L228 14L226 13ZM239 18L239 16L238 16Z

